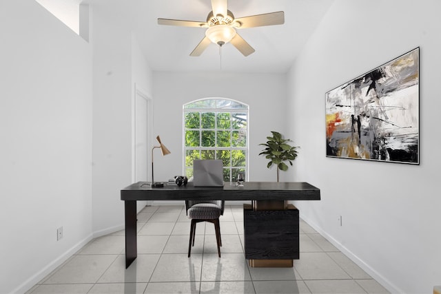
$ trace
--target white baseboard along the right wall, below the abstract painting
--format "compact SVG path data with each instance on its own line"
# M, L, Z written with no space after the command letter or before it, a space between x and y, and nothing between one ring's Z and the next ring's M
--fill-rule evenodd
M331 235L328 235L327 232L325 232L322 228L318 227L317 224L306 218L305 216L300 213L300 218L302 220L305 220L307 224L309 224L314 230L316 230L320 235L325 237L331 244L337 247L338 250L340 250L343 254L347 256L350 260L352 260L355 264L360 266L360 268L368 273L373 279L375 279L377 282L379 282L384 288L387 288L387 290L391 293L404 293L400 288L398 288L396 285L389 282L389 280L385 279L380 273L378 273L375 269L372 269L369 264L365 263L363 260L358 258L357 255L353 254L349 249L347 249L345 246L340 244L337 240L335 240Z

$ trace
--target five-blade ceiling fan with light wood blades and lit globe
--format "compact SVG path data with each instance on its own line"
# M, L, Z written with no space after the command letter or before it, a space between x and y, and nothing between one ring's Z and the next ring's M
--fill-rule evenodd
M283 11L257 14L249 17L234 18L231 11L227 10L227 0L211 0L212 11L207 16L207 21L183 21L178 19L158 19L159 25L178 25L185 27L207 28L205 37L194 48L190 56L200 56L209 43L222 47L231 42L244 56L252 54L255 50L245 41L236 29L254 28L265 25L282 25L285 23Z

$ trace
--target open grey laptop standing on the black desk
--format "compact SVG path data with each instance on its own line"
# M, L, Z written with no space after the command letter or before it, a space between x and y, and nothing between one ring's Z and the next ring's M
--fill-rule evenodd
M223 187L223 163L218 159L193 161L194 187Z

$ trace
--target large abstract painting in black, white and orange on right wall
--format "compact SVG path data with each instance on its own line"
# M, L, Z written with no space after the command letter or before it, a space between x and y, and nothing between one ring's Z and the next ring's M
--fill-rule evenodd
M420 163L420 48L326 93L326 156Z

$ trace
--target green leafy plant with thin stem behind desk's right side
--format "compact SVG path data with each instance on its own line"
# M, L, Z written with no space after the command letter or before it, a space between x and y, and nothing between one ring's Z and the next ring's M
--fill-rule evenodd
M270 168L271 165L276 165L277 167L277 181L278 181L278 173L279 170L287 171L288 165L285 164L285 161L289 162L289 165L292 166L292 160L297 157L297 146L291 146L288 142L292 142L289 139L284 139L282 134L278 132L271 131L273 134L272 137L267 137L267 143L262 143L259 145L266 146L265 149L260 152L259 155L265 155L265 158L269 159L267 168Z

